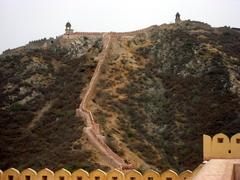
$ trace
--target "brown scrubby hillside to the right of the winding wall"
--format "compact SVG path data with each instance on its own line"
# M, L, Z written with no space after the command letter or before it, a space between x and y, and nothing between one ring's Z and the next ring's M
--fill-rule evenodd
M239 95L240 33L186 21L116 39L91 106L132 164L181 171L202 161L203 133L239 132Z

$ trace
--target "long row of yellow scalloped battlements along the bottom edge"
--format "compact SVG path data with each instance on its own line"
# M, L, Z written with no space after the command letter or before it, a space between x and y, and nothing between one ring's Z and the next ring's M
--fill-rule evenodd
M160 174L154 170L147 170L141 174L137 170L120 171L117 169L107 173L100 169L90 173L78 169L71 173L66 169L53 172L47 168L38 172L31 168L19 172L15 168L10 168L3 172L0 170L0 180L190 180L193 173L186 170L177 174L173 170L167 170Z

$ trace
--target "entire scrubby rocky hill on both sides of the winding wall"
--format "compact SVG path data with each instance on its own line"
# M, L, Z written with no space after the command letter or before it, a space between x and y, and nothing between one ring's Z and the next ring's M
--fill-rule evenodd
M0 169L102 167L75 117L101 51L80 37L1 55ZM135 168L182 171L202 161L203 133L239 132L239 102L240 31L184 21L114 37L89 107Z

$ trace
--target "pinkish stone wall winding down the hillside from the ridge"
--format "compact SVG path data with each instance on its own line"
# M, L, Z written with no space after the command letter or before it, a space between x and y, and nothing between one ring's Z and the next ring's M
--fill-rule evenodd
M101 152L105 160L111 164L114 168L119 169L130 169L131 165L125 163L125 161L114 153L109 146L104 142L103 136L101 135L99 124L94 120L92 112L87 108L87 103L91 99L94 92L95 86L97 84L98 77L101 73L101 67L104 61L107 59L109 53L109 46L114 33L103 33L103 50L97 56L98 64L87 88L86 94L84 95L79 108L76 110L77 116L83 116L86 120L87 127L84 128L84 133L87 135L88 140L92 143L99 152Z

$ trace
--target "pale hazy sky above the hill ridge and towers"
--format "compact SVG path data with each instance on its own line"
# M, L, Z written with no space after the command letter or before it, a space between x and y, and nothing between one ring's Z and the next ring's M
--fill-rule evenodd
M240 27L240 0L0 0L0 53L75 31L131 31L182 19Z

